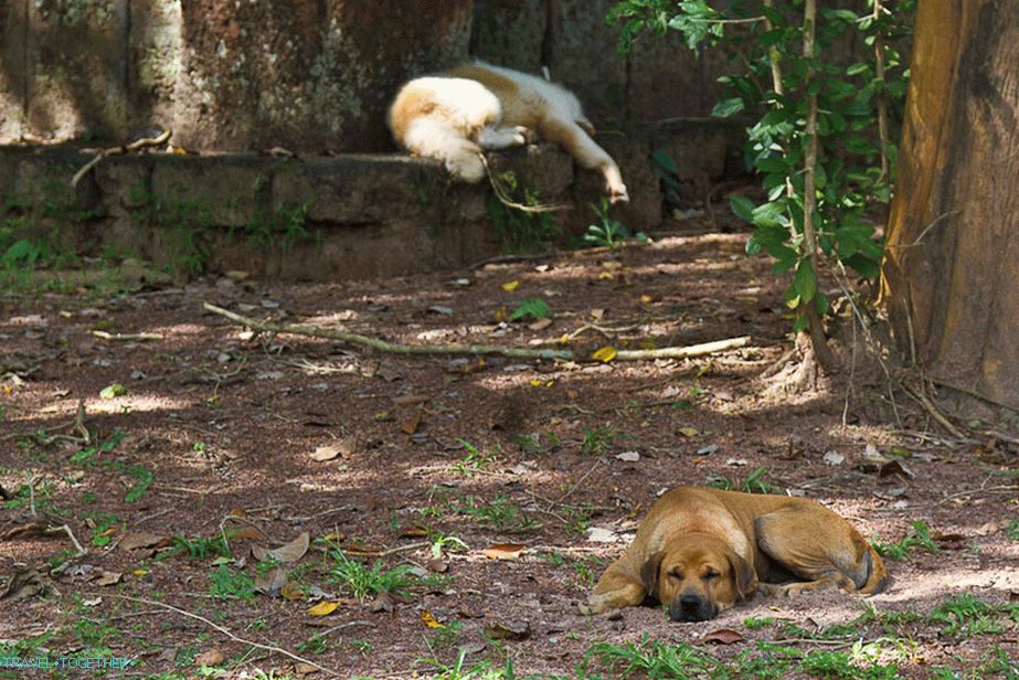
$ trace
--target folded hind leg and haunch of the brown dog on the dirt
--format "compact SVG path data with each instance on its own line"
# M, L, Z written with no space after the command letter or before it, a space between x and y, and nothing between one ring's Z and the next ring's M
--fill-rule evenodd
M794 596L839 587L878 592L884 565L867 541L835 513L787 508L754 521L757 546L784 569L804 580L783 585L762 584L764 593Z

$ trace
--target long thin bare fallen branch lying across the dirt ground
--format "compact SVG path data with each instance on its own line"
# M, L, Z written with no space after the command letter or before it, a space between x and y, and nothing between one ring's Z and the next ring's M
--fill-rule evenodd
M361 336L359 333L335 328L322 328L321 326L312 326L310 323L273 323L270 321L256 321L255 319L244 317L229 309L223 309L222 307L216 307L210 302L203 302L202 307L205 311L226 317L235 323L246 326L254 330L339 340L340 342L359 344L380 352L390 352L393 354L491 354L514 359L559 359L561 361L590 360L588 357L577 355L573 350L530 349L499 347L496 344L402 344L400 342L389 342L379 338ZM750 336L742 336L740 338L729 338L726 340L715 340L713 342L702 342L700 344L690 344L687 347L664 347L657 350L618 350L615 360L648 361L655 359L686 359L746 347L749 343Z

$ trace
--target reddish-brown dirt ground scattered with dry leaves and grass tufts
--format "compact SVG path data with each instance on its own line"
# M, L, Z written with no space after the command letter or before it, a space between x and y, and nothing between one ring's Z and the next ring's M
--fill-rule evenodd
M1019 677L1015 436L953 439L882 380L861 371L849 391L848 366L792 385L783 286L745 241L4 294L0 656L135 660L125 676L495 678L509 659L516 677L609 678L628 662L593 646L652 656L658 640L710 655L691 677ZM507 321L534 298L550 321ZM204 301L416 344L751 340L683 360L404 357L252 333ZM892 587L694 624L654 606L582 616L656 497L704 484L815 498L898 543ZM259 549L283 544L278 562ZM379 594L386 574L405 587ZM766 668L778 647L792 670ZM836 652L849 670L817 665Z

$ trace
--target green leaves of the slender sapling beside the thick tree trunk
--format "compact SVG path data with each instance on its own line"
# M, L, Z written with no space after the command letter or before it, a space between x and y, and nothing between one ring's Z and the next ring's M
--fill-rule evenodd
M875 278L882 245L867 213L891 198L896 149L890 139L875 138L874 130L879 129L879 109L893 121L901 118L909 73L896 45L912 31L916 3L903 0L888 8L892 11L862 14L822 7L815 52L809 56L803 54L803 17L797 3L769 8L730 2L724 9L717 9L721 3L712 4L705 0L624 0L607 20L622 23L620 53L643 33L679 31L690 49L718 46L742 65L742 73L720 78L725 98L712 113L756 117L747 129L745 160L762 177L765 200L756 203L734 195L731 208L754 226L747 253L766 253L774 258L776 273L793 273L786 300L799 310L795 326L802 329L809 306L820 315L829 311L804 240L808 102L816 97L818 111L813 214L817 245L825 261ZM732 25L741 30L726 33ZM856 53L866 56L846 66L829 56L832 44L841 53L853 45ZM887 171L879 161L882 147Z

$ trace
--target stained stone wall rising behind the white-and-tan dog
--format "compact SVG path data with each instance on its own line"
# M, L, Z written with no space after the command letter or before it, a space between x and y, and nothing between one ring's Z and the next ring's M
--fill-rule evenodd
M0 2L0 144L121 141L156 124L189 150L393 148L399 84L470 54L548 66L603 129L707 116L718 61L678 36L616 54L613 0ZM717 57L709 57L715 60Z

